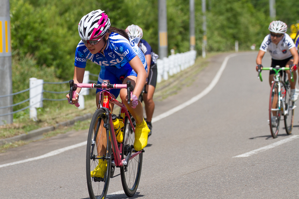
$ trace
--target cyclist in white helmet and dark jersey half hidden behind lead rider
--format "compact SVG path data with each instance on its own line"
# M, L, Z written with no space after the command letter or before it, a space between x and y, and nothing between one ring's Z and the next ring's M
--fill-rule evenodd
M138 43L139 48L145 55L145 59L147 62L148 70L147 70L147 78L145 82L145 92L143 93L143 100L145 103L145 112L146 112L146 123L150 129L149 136L152 134L152 117L154 114L155 103L153 100L155 87L157 83L157 64L156 61L158 59L158 55L153 52L151 46L147 41L141 39L143 37L143 31L138 25L129 25L126 28L126 32L128 35L134 37L140 37L140 41Z

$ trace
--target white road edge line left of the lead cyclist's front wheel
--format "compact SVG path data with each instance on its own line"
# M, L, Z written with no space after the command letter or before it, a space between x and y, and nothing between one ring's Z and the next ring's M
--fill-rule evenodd
M72 145L72 146L67 146L67 147L64 147L64 148L61 148L61 149L53 150L49 153L46 153L44 155L40 155L40 156L37 156L37 157L34 157L34 158L28 158L28 159L25 159L25 160L11 162L11 163L7 163L7 164L0 164L0 168L15 165L15 164L21 164L21 163L25 163L25 162L30 162L30 161L33 161L33 160L39 160L39 159L42 159L42 158L47 158L47 157L57 155L59 153L67 151L67 150L71 150L71 149L74 149L74 148L77 148L77 147L80 147L80 146L84 146L86 144L87 144L87 141L84 141L84 142L81 142L81 143L78 143L78 144L75 144L75 145Z

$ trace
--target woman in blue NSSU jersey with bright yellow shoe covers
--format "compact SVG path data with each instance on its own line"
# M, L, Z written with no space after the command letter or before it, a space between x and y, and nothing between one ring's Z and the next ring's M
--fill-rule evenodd
M125 77L124 83L130 80L135 88L130 104L124 104L136 121L134 149L142 150L147 145L150 129L144 121L140 101L136 108L132 108L143 90L147 75L145 56L137 46L139 38L131 39L125 30L110 27L110 19L102 10L92 11L83 16L78 24L78 31L81 41L75 53L74 83L82 83L87 59L101 66L98 84L103 80L109 80L111 84L121 84L121 76ZM80 90L81 88L78 88L77 93L80 93ZM97 89L96 92L97 107L100 91L101 89ZM126 89L112 89L110 92L115 98L120 95L123 102L127 101ZM78 96L76 94L72 99L73 104L78 102ZM67 97L69 98L68 95ZM112 103L110 108L112 112ZM104 147L104 143L99 143L98 146ZM91 175L102 177L106 169L107 161L99 161L98 167L91 172Z

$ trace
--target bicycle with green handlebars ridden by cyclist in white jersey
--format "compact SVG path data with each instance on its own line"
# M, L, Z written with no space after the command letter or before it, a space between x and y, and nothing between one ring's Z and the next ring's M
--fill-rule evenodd
M286 70L290 70L291 81L293 82L293 73L289 67L261 67L258 66L258 79L262 79L262 70L273 70L275 72L273 83L271 85L270 99L269 99L269 126L271 135L276 138L279 131L281 116L284 118L284 126L287 134L292 133L294 123L294 109L297 107L296 103L291 100L291 85L287 79ZM283 80L281 74L283 71Z

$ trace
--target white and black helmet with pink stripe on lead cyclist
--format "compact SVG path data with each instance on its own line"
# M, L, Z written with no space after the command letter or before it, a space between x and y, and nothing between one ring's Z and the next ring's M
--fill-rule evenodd
M110 19L102 10L89 12L78 24L79 35L83 40L94 39L104 35L110 28Z

